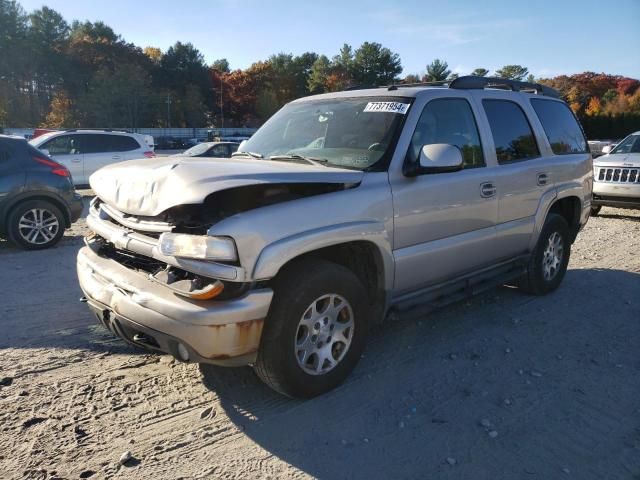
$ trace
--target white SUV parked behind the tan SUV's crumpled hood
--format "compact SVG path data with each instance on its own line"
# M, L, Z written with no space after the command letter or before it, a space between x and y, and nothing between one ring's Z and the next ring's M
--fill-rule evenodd
M111 163L155 157L143 135L110 130L66 130L31 140L31 145L63 164L74 185L89 184L89 176Z

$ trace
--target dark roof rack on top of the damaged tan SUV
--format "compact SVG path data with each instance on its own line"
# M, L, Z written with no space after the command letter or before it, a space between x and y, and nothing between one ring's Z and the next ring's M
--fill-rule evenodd
M477 77L475 75L467 75L453 80L442 80L439 82L400 83L389 85L385 88L387 88L387 90L397 90L398 88L444 86L459 90L498 88L503 90L512 90L514 92L532 92L537 95L560 98L560 93L557 90L547 87L546 85L540 85L539 83L521 82L519 80L510 80L508 78L498 77Z

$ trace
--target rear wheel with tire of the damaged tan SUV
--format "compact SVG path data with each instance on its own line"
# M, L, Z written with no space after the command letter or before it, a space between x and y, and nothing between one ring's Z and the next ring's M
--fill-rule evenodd
M551 213L542 227L527 273L520 279L518 287L532 295L553 292L567 272L570 255L571 236L567 221Z

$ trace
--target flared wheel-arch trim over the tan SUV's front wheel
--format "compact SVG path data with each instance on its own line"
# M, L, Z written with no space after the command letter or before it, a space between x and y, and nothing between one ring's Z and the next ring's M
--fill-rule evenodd
M305 253L347 242L370 242L378 250L384 267L386 291L393 289L394 263L391 242L384 223L355 221L300 232L267 245L258 257L253 270L255 280L276 276L290 260Z

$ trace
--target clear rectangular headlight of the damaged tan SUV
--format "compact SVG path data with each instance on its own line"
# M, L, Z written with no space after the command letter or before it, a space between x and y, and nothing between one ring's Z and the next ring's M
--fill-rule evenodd
M229 237L163 233L160 235L160 252L171 257L198 258L234 262L238 259L236 244Z

